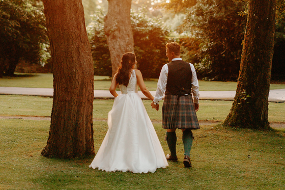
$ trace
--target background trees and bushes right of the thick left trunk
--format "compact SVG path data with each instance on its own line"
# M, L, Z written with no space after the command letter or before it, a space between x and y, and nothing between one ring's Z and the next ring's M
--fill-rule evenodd
M195 65L198 78L236 81L247 19L246 14L243 14L246 3L224 0L187 2L181 4L181 1L170 1L163 7L174 13L185 14L184 23L178 29L181 34L179 36L173 36L173 31L168 30L156 17L148 17L146 11L132 11L134 50L138 69L143 72L144 77L158 77L161 67L167 63L165 43L178 41L182 45L181 57ZM103 14L96 13L94 25L90 26L94 30L90 33L94 71L97 75L111 76L103 18ZM276 24L272 79L285 79L282 74L285 72L285 59L281 48L285 44L284 26L284 19Z

